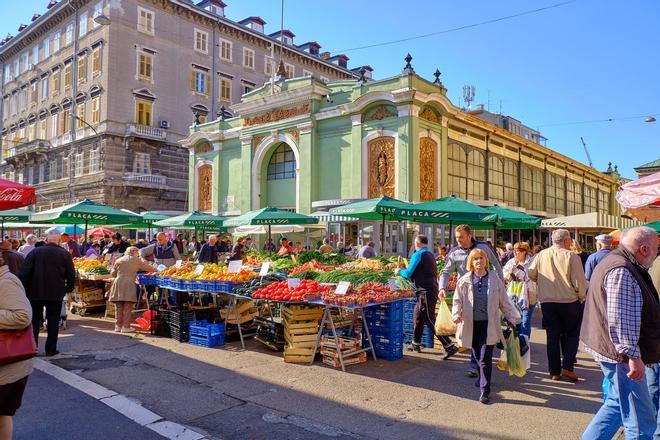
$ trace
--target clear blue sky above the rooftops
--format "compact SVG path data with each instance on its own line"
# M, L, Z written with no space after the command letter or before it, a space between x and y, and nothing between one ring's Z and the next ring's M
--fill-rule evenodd
M119 1L119 0L113 0ZM562 0L285 0L285 27L295 42L318 41L338 50L396 40L550 6ZM11 2L3 8L0 34L42 13L47 0ZM225 0L226 15L259 15L266 30L279 29L279 0ZM418 74L436 68L459 103L464 84L477 88L476 103L538 127L548 146L583 163L584 137L594 167L612 161L623 175L660 158L658 47L660 2L577 0L494 24L365 50L346 51L349 64L370 64L376 78L400 73L410 52ZM658 122L645 123L656 115ZM580 123L608 118L639 118ZM552 125L571 123L564 125Z

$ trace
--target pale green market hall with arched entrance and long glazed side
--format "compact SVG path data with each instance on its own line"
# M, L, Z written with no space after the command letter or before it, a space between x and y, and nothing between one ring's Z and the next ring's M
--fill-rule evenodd
M266 83L232 109L238 116L193 126L182 141L189 209L309 214L381 195L418 202L453 194L545 218L618 215L612 177L461 110L439 72L431 82L409 63L376 81ZM380 236L377 222L334 226L354 243ZM422 230L438 238L438 227ZM385 232L386 250L401 252L404 226L388 223Z

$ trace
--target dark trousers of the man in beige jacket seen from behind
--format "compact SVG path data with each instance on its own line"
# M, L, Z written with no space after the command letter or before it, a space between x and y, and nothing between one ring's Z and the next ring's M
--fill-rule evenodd
M579 301L567 304L543 303L541 312L547 338L548 372L559 376L562 368L573 371L580 344L582 304Z

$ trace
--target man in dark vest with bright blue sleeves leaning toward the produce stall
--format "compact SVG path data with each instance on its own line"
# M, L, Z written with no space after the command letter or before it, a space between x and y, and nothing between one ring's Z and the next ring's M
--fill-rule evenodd
M418 235L415 239L415 253L410 259L408 267L397 269L402 277L415 284L417 304L413 315L414 329L411 349L422 351L422 335L424 325L428 325L435 334L435 305L438 302L438 267L433 252L428 249L429 239L425 235ZM449 359L458 352L458 349L446 336L438 336L445 349L443 359Z

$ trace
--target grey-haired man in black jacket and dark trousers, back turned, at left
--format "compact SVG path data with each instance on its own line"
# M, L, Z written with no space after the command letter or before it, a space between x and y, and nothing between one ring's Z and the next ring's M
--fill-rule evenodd
M60 232L48 231L46 245L38 247L28 254L21 267L19 278L25 286L27 297L32 305L32 330L34 340L39 344L39 329L44 308L48 322L46 356L57 353L57 336L60 312L64 295L73 292L76 271L71 255L59 246Z

